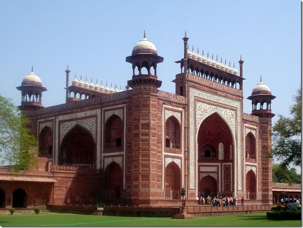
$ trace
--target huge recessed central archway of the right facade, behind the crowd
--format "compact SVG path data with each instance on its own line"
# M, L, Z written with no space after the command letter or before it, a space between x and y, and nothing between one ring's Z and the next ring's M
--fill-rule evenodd
M212 167L213 173L220 178L215 183L219 183L214 190L212 187L211 194L232 194L234 176L234 141L232 131L225 120L215 112L205 118L200 124L197 133L197 154L196 161L199 167ZM201 174L208 173L205 168L199 169L197 178ZM206 179L210 183L210 179ZM203 183L198 181L198 190L202 193L209 192ZM213 183L214 184L214 183ZM218 192L219 191L219 192ZM209 193L208 193L209 194ZM203 196L204 197L204 196Z

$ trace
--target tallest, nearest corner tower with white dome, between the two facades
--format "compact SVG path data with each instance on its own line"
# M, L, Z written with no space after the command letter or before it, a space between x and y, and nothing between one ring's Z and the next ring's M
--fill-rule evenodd
M164 199L162 102L158 99L162 82L157 77L157 64L162 61L155 45L145 38L145 32L143 39L134 46L132 55L126 57L133 69L132 79L127 81L132 88L132 99L127 104L125 176L126 199L132 205L150 205L155 199Z

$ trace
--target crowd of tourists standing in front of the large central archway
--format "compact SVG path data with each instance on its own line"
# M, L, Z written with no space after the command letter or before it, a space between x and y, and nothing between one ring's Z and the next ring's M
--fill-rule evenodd
M214 207L229 207L229 206L238 206L238 199L236 196L213 196L207 195L206 197L197 196L198 205L213 205ZM245 206L245 199L242 197L241 205Z

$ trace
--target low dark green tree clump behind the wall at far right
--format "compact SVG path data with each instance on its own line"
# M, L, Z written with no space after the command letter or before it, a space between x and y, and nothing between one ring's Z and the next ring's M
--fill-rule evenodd
M287 169L287 167L282 164L273 164L272 182L300 184L301 174L297 174L295 168Z

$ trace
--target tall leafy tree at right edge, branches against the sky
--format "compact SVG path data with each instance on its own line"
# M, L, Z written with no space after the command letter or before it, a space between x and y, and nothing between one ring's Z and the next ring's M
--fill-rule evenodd
M293 96L295 102L290 106L292 117L279 115L272 128L272 156L282 161L281 164L301 166L301 119L302 119L301 86Z

